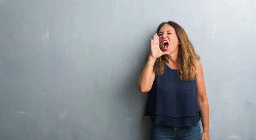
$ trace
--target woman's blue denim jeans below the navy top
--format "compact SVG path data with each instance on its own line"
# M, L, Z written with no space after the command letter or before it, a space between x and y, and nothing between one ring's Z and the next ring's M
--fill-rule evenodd
M201 140L201 128L197 126L173 127L151 123L150 140Z

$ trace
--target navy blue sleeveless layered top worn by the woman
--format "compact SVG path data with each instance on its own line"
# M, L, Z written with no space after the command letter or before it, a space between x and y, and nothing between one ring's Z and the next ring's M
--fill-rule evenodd
M145 105L144 115L155 124L196 126L200 120L196 80L181 81L177 70L166 64L163 75L155 77Z

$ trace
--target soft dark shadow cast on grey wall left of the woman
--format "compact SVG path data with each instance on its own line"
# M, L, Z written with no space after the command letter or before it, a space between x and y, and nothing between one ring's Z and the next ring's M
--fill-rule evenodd
M147 62L148 52L150 51L151 37L148 36L147 38L149 41L146 42L145 45L143 46L139 46L140 44L134 44L135 46L138 46L136 48L141 48L141 49L138 49L138 51L134 51L135 52L134 56L138 56L138 57L131 58L132 59L130 60L131 64L129 64L129 66L131 67L130 71L125 75L125 77L123 77L127 82L125 84L124 89L122 90L125 91L124 97L128 99L126 100L125 102L126 104L124 104L124 106L129 106L129 114L135 113L137 117L135 118L136 120L133 120L133 125L135 125L137 129L133 130L132 134L135 134L135 135L134 137L130 137L132 140L136 140L138 138L140 138L141 140L149 140L149 132L151 128L151 123L149 118L144 116L145 103L146 103L148 94L140 92L138 90L138 84L137 84L140 74L143 71L144 66ZM145 48L147 48L146 51L145 51ZM137 108L137 109L134 110L134 108Z

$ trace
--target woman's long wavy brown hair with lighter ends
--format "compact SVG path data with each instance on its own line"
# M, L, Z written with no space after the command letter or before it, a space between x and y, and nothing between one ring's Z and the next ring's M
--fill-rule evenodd
M197 76L195 59L200 60L200 56L197 53L195 53L194 46L190 42L186 32L177 23L172 21L163 22L158 26L156 33L158 34L160 28L166 24L171 25L175 29L178 40L180 42L178 58L176 61L179 68L177 70L177 73L180 76L180 80L191 81L195 79ZM156 75L163 75L164 63L164 56L161 56L156 59L153 67L153 71L156 73Z

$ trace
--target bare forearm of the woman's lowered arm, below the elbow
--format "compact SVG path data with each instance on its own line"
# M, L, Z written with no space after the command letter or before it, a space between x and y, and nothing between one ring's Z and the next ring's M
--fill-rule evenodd
M209 133L209 105L208 100L199 103L203 132Z

